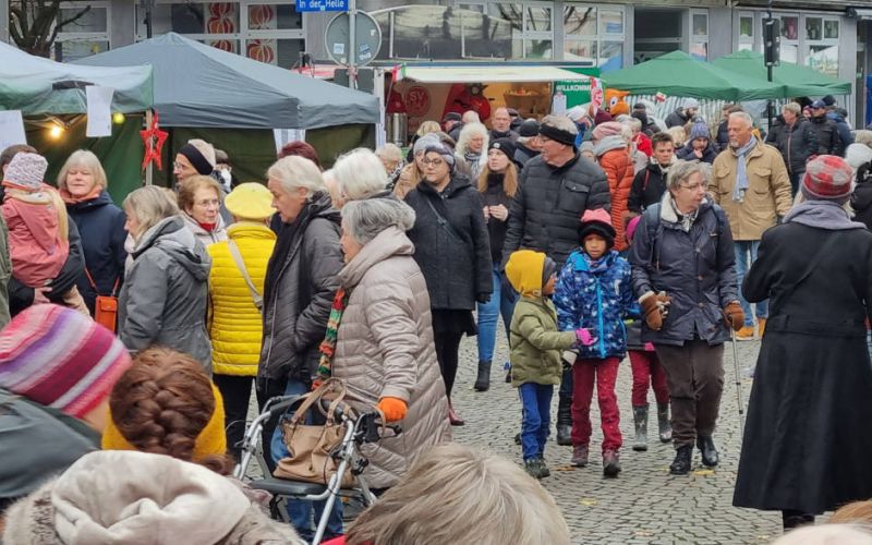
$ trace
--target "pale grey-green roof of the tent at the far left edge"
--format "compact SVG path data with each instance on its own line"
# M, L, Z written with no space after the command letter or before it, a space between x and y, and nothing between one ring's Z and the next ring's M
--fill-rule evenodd
M87 85L114 89L112 111L143 111L154 104L152 66L76 66L0 43L2 110L21 110L24 116L86 113Z

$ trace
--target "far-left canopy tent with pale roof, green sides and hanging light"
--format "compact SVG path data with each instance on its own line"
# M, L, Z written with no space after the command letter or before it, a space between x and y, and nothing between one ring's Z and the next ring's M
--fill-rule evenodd
M55 180L72 152L90 149L100 158L109 179L109 192L118 202L142 183L140 167L144 148L138 131L143 120L135 113L152 108L152 74L150 66L64 64L0 43L0 110L21 110L27 142L49 160L47 181ZM85 136L88 85L112 87L112 111L132 114L112 126L110 137ZM55 121L65 126L57 138L47 131Z

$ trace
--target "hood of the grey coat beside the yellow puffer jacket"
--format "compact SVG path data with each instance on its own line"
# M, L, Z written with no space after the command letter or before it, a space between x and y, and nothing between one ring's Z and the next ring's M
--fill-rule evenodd
M133 251L133 258L136 259L152 246L169 254L197 280L205 281L209 277L211 259L206 253L206 247L190 229L185 228L184 220L180 216L165 218L143 233Z

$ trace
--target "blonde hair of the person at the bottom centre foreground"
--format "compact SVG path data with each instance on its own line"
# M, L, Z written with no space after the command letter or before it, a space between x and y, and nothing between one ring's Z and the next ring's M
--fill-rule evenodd
M562 545L569 529L554 498L518 465L448 444L423 453L354 521L346 543Z

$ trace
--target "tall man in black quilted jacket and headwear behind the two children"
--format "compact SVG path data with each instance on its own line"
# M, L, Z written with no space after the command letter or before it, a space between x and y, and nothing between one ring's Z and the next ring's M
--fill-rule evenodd
M584 210L610 206L608 180L596 164L576 149L576 124L566 117L546 116L538 137L542 154L526 162L509 211L502 251L504 266L519 249L544 252L562 267L579 246ZM572 373L564 373L557 412L557 443L572 445Z

